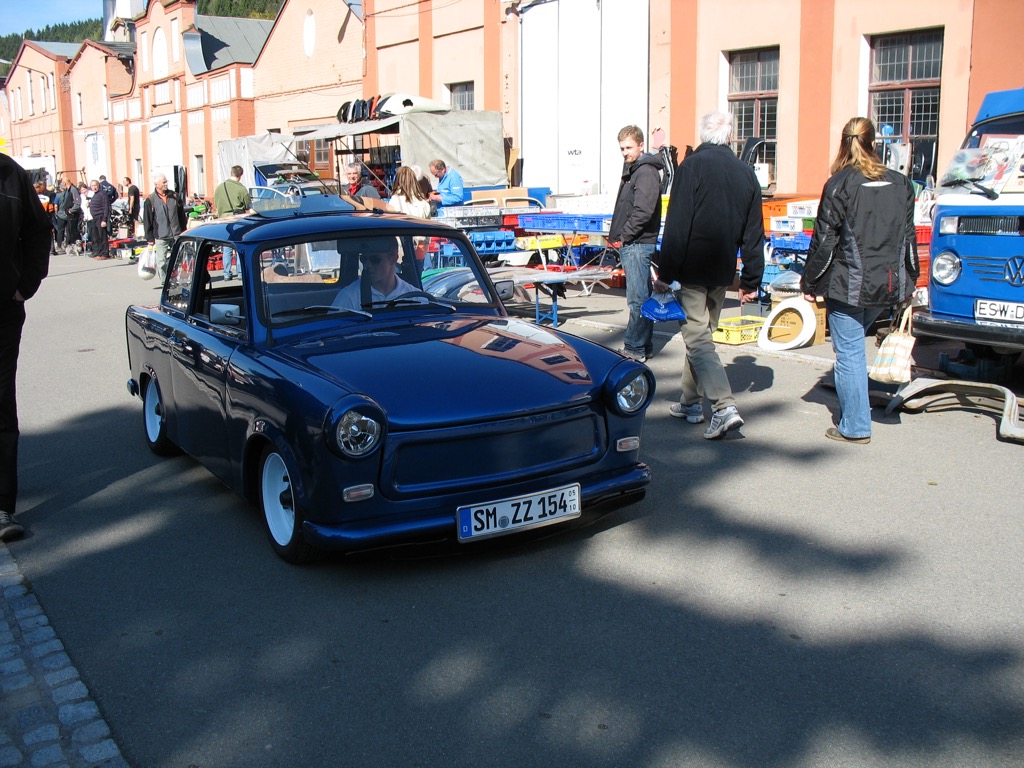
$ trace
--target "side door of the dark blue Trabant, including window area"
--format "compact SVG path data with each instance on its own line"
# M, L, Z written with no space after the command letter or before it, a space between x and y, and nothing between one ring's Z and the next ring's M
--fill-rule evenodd
M167 295L185 311L184 322L171 338L178 444L229 481L234 462L227 444L227 382L231 355L246 341L247 331L242 287L214 289L214 280L220 286L222 273L208 267L211 256L219 252L217 244L181 241L172 257ZM241 324L227 325L223 316L213 322L211 308L216 310L228 301L238 302ZM236 446L236 451L241 449Z

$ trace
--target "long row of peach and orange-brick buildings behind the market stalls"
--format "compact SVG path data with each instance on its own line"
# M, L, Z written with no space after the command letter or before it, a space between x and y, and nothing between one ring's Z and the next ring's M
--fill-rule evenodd
M109 24L111 40L26 42L0 137L58 171L143 189L183 171L209 196L219 141L298 134L297 154L335 175L358 139L301 134L346 101L402 92L501 113L514 182L610 195L621 127L681 158L699 117L725 110L771 190L816 195L856 115L912 177L940 173L983 95L1022 85L1008 53L1022 27L1019 0L898 12L884 0L285 0L272 22L154 0Z

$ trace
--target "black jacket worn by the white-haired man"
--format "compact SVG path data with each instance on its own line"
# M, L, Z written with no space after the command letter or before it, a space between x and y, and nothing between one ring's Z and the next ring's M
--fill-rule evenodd
M761 286L765 268L761 184L728 146L700 144L676 170L665 215L658 276L666 283L716 288L736 278Z

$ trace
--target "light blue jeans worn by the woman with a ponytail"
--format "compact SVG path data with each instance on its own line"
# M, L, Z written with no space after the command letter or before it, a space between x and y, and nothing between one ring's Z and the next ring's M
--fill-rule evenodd
M881 307L856 307L826 299L828 330L836 352L836 394L839 395L839 431L847 437L871 436L871 406L867 400L867 355L864 336Z

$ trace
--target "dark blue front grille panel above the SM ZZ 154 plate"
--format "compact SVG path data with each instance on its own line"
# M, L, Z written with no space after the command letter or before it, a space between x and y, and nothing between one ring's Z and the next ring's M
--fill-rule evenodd
M391 433L382 486L398 497L451 493L561 472L603 453L603 421L578 406L482 425Z

